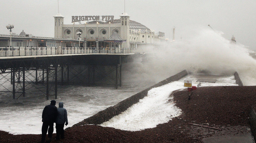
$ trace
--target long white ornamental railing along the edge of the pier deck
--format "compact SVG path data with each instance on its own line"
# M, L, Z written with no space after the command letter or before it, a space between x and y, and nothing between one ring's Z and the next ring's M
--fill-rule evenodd
M34 56L57 54L129 54L129 53L154 53L157 48L80 48L80 47L0 47L0 57Z

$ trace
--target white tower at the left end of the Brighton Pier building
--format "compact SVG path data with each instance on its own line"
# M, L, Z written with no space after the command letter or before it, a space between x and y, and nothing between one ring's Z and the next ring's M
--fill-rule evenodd
M62 38L62 25L63 25L63 18L60 13L54 16L54 37L55 38Z

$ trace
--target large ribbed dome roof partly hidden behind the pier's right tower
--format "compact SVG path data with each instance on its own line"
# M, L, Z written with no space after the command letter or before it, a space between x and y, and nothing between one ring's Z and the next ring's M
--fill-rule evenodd
M115 19L114 20L114 23L120 23L120 19ZM139 32L139 30L142 32L142 33L146 33L146 30L148 32L150 32L150 29L148 27L146 27L145 25L142 25L140 24L139 22L136 22L136 21L133 21L133 20L130 20L130 25L129 25L129 31L137 31Z

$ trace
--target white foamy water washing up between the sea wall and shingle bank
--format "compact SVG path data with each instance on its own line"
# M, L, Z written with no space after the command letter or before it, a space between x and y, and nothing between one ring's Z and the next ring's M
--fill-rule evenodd
M179 116L182 111L172 102L167 102L172 91L184 89L184 80L192 80L196 86L197 78L217 79L215 83L201 82L201 86L222 86L237 85L234 76L214 76L214 75L188 75L179 81L171 82L161 87L153 88L148 91L148 95L126 111L104 122L101 126L114 127L116 129L139 131L147 128L156 127L158 124L166 123L172 118Z

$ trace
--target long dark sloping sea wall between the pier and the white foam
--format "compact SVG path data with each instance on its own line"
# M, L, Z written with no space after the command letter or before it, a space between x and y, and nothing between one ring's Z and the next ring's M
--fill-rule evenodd
M107 109L100 111L97 114L95 114L89 118L86 118L83 121L81 121L73 126L80 126L80 125L86 125L86 124L94 124L94 125L102 124L103 122L108 121L112 117L119 115L120 113L122 113L123 111L125 111L126 109L131 107L133 104L136 104L137 102L139 102L140 99L147 96L148 90L165 85L165 84L173 82L173 81L177 81L186 75L188 75L187 71L183 70L182 72L180 72L176 75L173 75L161 82L158 82L155 85L153 85L147 89L144 89L144 90L140 91L139 93L137 93L129 98L124 99L123 101L119 102L118 104L116 104L114 106L110 106Z

